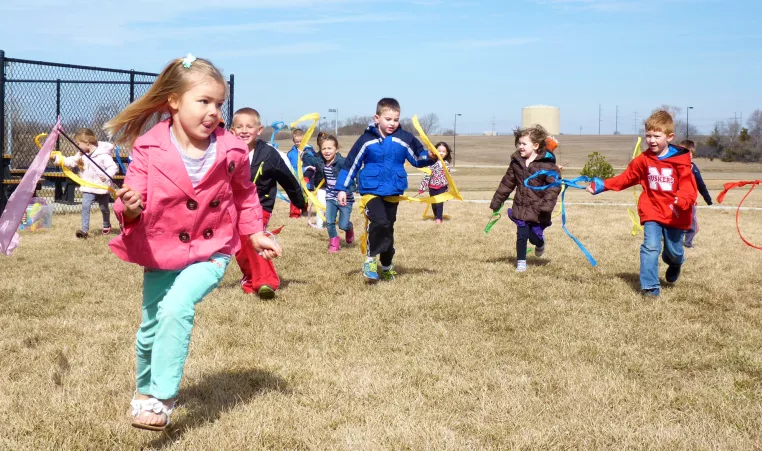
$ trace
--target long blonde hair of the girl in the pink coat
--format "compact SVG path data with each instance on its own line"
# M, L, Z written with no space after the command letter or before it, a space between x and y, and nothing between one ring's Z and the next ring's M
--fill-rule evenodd
M211 77L219 82L225 86L227 98L228 85L225 77L209 60L197 58L190 67L185 67L183 60L184 58L177 58L170 61L148 92L103 125L103 129L114 138L115 143L131 148L146 124L154 120L159 121L162 115L170 112L169 96L185 94L191 89L194 77Z

